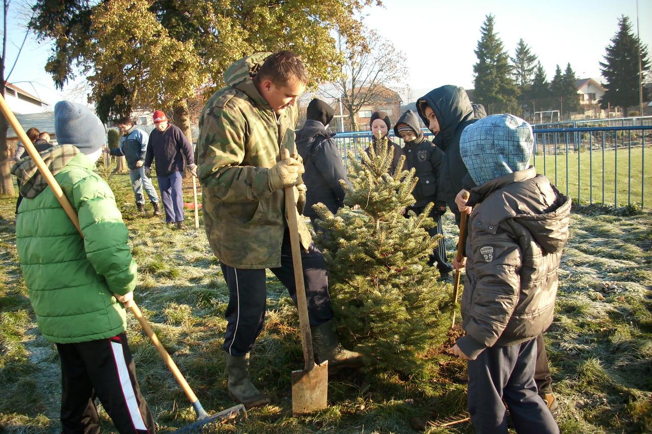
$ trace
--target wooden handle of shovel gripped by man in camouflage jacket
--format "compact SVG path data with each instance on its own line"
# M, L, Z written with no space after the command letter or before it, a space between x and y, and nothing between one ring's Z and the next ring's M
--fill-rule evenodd
M288 149L282 149L281 158L289 158ZM303 266L301 265L301 242L299 241L299 212L294 195L294 187L285 188L286 214L288 216L289 242L292 248L292 266L294 268L294 283L297 292L297 310L299 311L299 327L301 328L301 346L303 347L304 370L308 371L315 365L312 353L312 334L308 319L308 303L306 288L303 282Z

